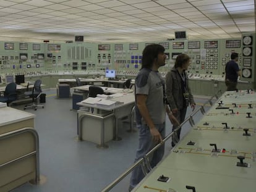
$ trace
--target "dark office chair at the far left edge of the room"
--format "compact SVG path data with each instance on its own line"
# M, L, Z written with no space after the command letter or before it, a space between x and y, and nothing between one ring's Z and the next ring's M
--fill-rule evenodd
M0 102L6 102L9 106L12 101L15 101L17 99L16 88L16 83L9 83L4 91L4 96L0 96Z

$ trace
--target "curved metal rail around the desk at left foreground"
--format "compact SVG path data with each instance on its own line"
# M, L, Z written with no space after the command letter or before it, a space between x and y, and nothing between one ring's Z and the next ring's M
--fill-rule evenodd
M9 164L12 164L12 163L17 162L17 161L21 161L22 159L25 159L27 157L35 155L35 157L36 157L35 183L37 184L40 181L39 136L38 136L37 131L34 128L31 128L31 127L20 128L19 130L14 130L14 131L10 131L10 132L7 132L7 133L2 133L0 135L0 140L4 140L6 138L10 138L12 136L20 135L22 133L27 133L27 132L30 132L30 133L33 134L33 136L35 136L35 151L32 151L32 152L30 152L28 154L25 154L25 155L21 156L21 157L13 159L13 160L11 160L9 162L5 162L4 164L0 164L0 169L2 167L5 167L5 166L9 165Z

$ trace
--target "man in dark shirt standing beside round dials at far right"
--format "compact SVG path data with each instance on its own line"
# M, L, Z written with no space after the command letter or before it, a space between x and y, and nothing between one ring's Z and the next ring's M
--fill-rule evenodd
M241 70L237 65L238 61L238 53L231 53L231 60L226 63L225 67L225 84L227 86L227 91L235 91L237 90L237 78L241 76Z

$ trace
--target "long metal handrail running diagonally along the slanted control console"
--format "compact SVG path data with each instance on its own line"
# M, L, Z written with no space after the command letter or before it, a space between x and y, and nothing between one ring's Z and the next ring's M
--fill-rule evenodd
M214 97L216 96L216 94L214 96L212 96L210 99L208 99L207 102L205 102L205 104L207 104L208 102L210 102ZM203 104L203 106L205 106L205 104ZM135 167L143 164L144 161L146 161L146 164L147 164L147 158L148 156L151 155L151 153L153 153L154 151L156 151L156 149L160 148L160 146L162 144L164 144L167 140L169 140L169 138L171 138L174 133L179 130L182 125L184 125L187 121L189 121L190 119L192 119L192 117L197 114L198 111L202 111L202 108L203 106L201 107L198 107L197 110L195 110L194 112L192 112L192 114L189 115L189 117L187 117L182 123L181 125L179 125L173 132L171 132L169 135L167 135L163 141L161 143L158 143L153 149L151 149L147 154L145 154L144 157L140 158L137 162L135 162L131 167L129 167L124 173L122 173L121 175L119 175L119 177L116 178L116 180L114 180L114 182L110 183L108 186L106 186L103 190L101 190L101 192L108 192L110 191L114 186L117 185L117 183L121 182L121 180L126 177L130 172L132 172L132 170L135 169ZM204 109L203 109L204 111Z

